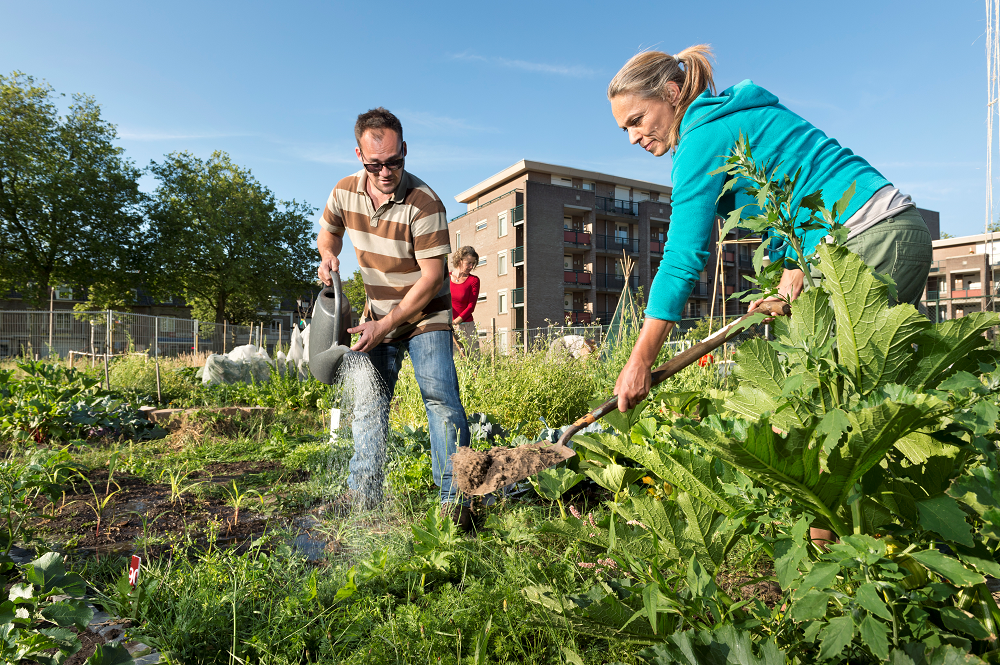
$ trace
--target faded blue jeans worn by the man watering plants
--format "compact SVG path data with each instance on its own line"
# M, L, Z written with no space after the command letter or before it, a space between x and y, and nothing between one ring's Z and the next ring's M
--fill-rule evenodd
M369 503L377 503L382 498L389 406L396 390L403 354L407 352L413 361L417 385L427 409L434 482L441 488L441 502L453 503L458 496L458 486L451 478L451 455L459 446L469 445L469 423L458 394L450 330L434 330L409 340L384 342L369 353L387 394L383 399L354 405L351 426L354 456L348 467L347 486Z

